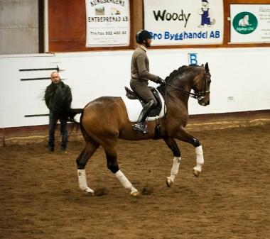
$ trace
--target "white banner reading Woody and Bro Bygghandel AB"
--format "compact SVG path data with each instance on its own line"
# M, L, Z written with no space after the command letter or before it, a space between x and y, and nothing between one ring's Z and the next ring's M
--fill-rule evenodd
M222 0L144 0L151 45L223 43Z

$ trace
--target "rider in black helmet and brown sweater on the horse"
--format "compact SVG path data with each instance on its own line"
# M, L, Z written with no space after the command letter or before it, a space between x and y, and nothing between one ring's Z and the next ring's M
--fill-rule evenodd
M158 102L151 89L148 88L148 80L163 84L161 77L149 72L149 60L146 54L146 48L151 47L151 34L147 30L140 30L136 33L136 42L139 43L138 48L134 50L131 59L131 89L144 100L146 105L142 109L138 121L132 126L133 130L141 133L148 133L144 121L151 109L155 108Z

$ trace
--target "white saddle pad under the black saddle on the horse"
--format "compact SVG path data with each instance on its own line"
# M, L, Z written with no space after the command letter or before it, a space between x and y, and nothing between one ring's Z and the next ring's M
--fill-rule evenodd
M161 98L161 112L158 116L154 117L147 117L146 121L154 121L156 118L162 118L166 113L166 106L164 104L164 99L161 93L158 91L158 95ZM121 99L124 101L124 104L126 105L126 112L129 116L130 122L136 122L139 118L139 115L141 113L141 110L143 109L143 106L141 105L141 102L138 99L129 99L126 96L121 96Z

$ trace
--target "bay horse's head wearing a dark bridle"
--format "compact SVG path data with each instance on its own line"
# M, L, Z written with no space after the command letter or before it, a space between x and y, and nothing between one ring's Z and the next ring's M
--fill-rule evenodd
M211 74L208 67L208 63L205 66L200 66L200 72L196 75L193 82L193 90L195 92L195 98L198 99L198 103L201 106L207 106L210 104L210 83Z

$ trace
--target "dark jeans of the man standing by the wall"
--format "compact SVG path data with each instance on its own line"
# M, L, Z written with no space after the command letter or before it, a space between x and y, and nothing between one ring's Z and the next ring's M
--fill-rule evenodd
M63 120L63 118L59 118L55 113L50 111L49 114L49 142L48 146L50 149L54 149L55 147L55 129L57 126L57 121L60 121L61 126L61 134L62 134L62 143L61 149L65 150L68 143L68 125L67 121Z

